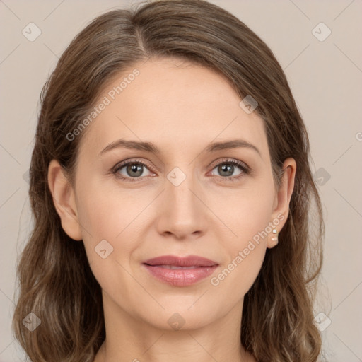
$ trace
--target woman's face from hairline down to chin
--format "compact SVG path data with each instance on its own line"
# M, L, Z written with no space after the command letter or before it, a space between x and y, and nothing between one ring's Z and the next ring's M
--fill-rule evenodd
M79 131L77 223L62 225L83 239L105 310L162 329L239 316L291 192L274 185L262 119L225 78L176 59L136 64L96 105Z

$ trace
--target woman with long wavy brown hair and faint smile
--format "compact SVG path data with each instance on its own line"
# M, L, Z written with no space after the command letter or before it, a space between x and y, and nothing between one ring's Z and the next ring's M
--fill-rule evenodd
M13 317L25 352L317 361L309 159L284 72L227 11L160 0L96 18L42 91Z

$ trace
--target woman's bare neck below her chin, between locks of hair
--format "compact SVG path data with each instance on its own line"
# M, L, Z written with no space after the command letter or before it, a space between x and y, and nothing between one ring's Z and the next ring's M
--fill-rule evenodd
M107 300L107 337L94 362L255 361L240 343L240 304L220 320L202 327L170 330L136 319Z

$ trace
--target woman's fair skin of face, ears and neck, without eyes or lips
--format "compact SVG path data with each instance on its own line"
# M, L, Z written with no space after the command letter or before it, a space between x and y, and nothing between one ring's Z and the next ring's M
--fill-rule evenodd
M83 240L103 291L107 338L94 361L255 361L240 345L243 298L267 248L277 242L269 233L218 286L211 278L278 215L284 216L276 226L280 232L295 160L285 160L276 189L263 120L239 106L240 98L220 74L180 59L149 59L134 68L139 76L83 134L74 185L56 160L48 172L62 227L80 240L74 243ZM99 99L132 69L113 79ZM152 142L161 153L114 148L100 154L120 138ZM243 139L260 154L246 147L204 151L211 142L230 139ZM136 182L110 171L134 158L153 170L144 167ZM231 165L226 176L217 167L228 165L225 158L243 161L252 172L237 180L243 171ZM186 176L178 186L167 178L175 167ZM118 173L134 175L127 167ZM105 259L95 252L100 240L113 247ZM160 255L199 255L219 266L197 284L170 286L142 267ZM174 313L185 320L179 330L168 324Z

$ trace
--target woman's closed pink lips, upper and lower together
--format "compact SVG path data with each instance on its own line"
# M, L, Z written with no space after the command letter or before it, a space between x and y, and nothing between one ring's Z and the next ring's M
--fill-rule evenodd
M144 267L158 280L173 286L189 286L211 275L218 263L204 257L191 255L176 257L165 255L148 259Z

